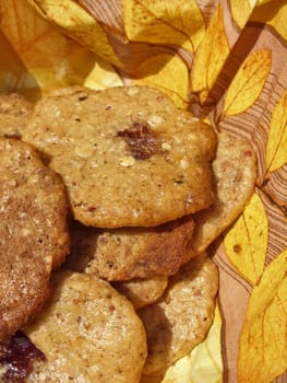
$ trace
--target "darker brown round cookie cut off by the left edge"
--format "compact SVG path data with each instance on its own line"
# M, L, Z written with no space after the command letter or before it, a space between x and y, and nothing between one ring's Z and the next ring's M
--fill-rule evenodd
M0 340L46 300L51 267L69 252L67 211L64 186L36 150L0 138Z

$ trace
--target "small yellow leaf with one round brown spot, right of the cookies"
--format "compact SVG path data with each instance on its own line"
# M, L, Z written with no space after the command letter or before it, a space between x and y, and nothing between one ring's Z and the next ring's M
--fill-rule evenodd
M254 194L243 213L225 235L226 254L235 268L252 285L260 279L267 248L267 217Z

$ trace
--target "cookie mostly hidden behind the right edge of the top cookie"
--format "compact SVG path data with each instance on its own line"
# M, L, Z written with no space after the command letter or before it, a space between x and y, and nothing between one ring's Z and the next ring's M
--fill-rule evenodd
M194 233L186 262L205 251L250 200L256 181L256 158L251 144L226 132L219 134L213 171L215 201L208 209L193 216Z

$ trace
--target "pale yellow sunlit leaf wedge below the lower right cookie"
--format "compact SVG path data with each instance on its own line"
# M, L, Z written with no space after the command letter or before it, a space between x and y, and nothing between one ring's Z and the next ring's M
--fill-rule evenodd
M222 318L216 306L215 316L204 341L189 356L170 367L162 383L219 383L223 381L220 351Z

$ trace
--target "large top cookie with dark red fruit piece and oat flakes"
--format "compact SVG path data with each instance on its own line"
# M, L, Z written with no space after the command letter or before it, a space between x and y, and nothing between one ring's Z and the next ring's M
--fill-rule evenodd
M214 131L153 88L50 95L24 140L61 175L86 225L153 227L213 201Z

